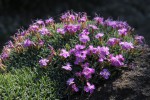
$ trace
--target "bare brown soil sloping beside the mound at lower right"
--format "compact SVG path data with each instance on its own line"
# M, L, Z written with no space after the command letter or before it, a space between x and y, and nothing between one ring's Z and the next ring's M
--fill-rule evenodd
M150 100L150 48L130 64L132 70L99 87L91 96L78 96L71 100Z

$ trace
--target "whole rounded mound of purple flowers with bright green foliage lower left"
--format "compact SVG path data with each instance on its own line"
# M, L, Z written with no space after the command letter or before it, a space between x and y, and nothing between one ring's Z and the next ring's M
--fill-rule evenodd
M1 99L62 99L94 93L141 53L143 37L122 21L67 12L18 32L0 56ZM77 93L76 93L77 92Z

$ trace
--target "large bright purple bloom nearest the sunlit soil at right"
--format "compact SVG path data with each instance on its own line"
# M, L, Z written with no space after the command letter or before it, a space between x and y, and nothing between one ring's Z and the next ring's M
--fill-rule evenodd
M121 67L121 66L124 65L123 62L124 62L124 58L123 58L123 56L121 54L120 55L116 55L116 56L113 56L113 55L110 56L110 63L113 66Z

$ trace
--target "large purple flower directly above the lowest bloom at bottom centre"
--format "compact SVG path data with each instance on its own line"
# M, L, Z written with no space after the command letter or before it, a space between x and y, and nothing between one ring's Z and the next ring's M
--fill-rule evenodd
M89 67L84 67L82 74L84 75L84 77L86 79L90 79L92 77L92 74L95 73L95 69L94 68L89 68Z

